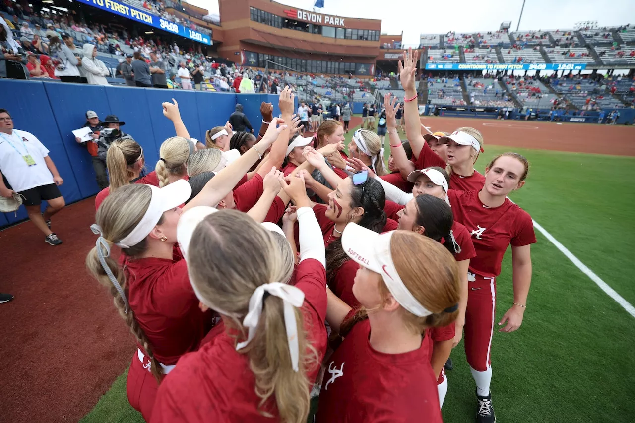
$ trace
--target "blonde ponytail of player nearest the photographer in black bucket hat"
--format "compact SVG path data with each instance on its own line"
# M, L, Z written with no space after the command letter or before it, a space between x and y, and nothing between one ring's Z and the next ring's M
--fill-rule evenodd
M115 140L106 153L106 166L110 179L109 192L130 184L135 176L133 166L143 158L143 149L135 140Z

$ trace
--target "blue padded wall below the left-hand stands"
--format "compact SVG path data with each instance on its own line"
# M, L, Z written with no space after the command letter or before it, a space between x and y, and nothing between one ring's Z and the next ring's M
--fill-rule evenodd
M64 185L60 191L67 204L97 194L95 172L88 151L75 141L72 130L86 123L86 111L100 119L115 114L126 124L121 128L144 148L147 170L154 170L159 147L175 135L174 126L163 116L162 102L177 100L190 136L205 142L205 132L224 126L236 102L244 107L255 132L260 129L260 103L274 104L278 116L278 96L205 91L162 90L126 86L97 86L43 81L0 79L0 109L13 116L17 130L35 135L50 150ZM297 104L296 104L297 109ZM0 213L0 227L27 218L23 207L14 213Z

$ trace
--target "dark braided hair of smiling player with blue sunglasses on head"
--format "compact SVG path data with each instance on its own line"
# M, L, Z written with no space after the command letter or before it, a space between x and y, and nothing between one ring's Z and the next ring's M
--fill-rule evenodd
M361 185L351 184L351 208L364 209L358 225L371 231L382 232L387 222L385 205L384 187L375 178L368 178ZM333 286L338 270L347 260L350 258L342 248L342 238L335 239L326 248L326 281L330 286Z

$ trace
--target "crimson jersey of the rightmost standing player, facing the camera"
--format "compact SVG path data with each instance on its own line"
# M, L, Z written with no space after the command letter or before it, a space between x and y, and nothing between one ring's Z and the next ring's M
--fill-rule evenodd
M476 257L470 271L485 278L500 274L500 264L507 246L524 246L536 242L529 213L505 198L498 207L481 203L478 191L448 192L455 220L465 225L472 236Z

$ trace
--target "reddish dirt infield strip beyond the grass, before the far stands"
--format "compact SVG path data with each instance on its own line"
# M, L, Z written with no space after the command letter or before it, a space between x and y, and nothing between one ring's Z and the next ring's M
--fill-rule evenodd
M470 117L422 117L434 131L453 131L471 126L481 131L487 145L528 149L635 156L635 127L585 123L472 119Z

